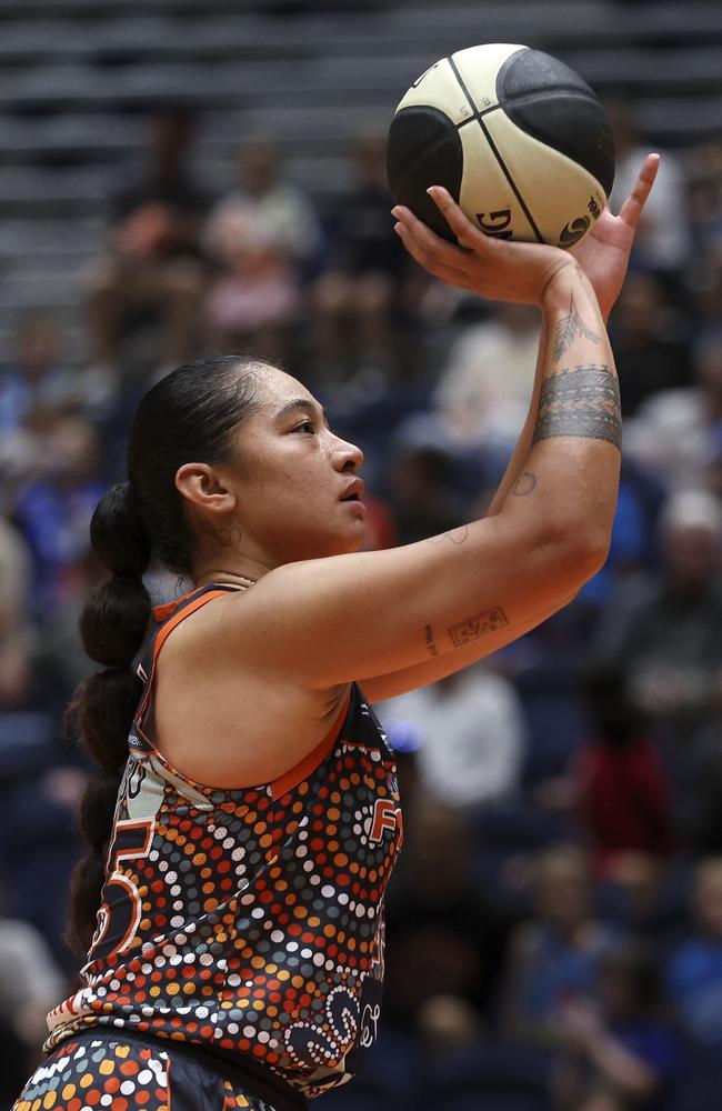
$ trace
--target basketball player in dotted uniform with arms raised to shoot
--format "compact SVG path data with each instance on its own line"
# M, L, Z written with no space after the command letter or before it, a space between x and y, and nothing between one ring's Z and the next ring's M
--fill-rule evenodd
M442 189L465 249L395 210L432 273L542 312L529 420L482 521L359 551L361 452L273 367L199 361L146 396L128 481L91 526L110 578L81 615L104 667L76 705L103 768L71 898L86 964L16 1111L293 1111L359 1068L402 840L370 704L520 637L604 561L621 432L604 321L655 168L575 258L487 239ZM151 554L193 589L148 637Z

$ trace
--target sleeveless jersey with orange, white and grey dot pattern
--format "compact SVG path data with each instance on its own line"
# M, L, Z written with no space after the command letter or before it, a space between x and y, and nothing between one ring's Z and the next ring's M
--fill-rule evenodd
M93 1023L127 1027L242 1054L311 1098L374 1041L382 900L403 837L395 768L355 684L275 782L218 790L171 767L143 733L156 660L228 589L156 610L83 987L49 1015L46 1049Z

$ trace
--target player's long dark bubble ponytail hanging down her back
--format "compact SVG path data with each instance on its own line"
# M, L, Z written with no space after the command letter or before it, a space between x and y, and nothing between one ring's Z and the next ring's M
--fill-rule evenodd
M103 670L81 683L68 711L73 730L100 765L78 811L88 851L71 879L68 941L81 954L90 948L96 928L118 788L128 758L128 731L142 693L131 664L151 612L142 580L151 546L130 483L114 486L101 498L90 539L111 578L90 595L80 614L86 652Z

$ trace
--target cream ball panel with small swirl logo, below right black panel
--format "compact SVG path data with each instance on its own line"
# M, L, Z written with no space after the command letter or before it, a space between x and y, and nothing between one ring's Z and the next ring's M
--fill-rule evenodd
M604 208L604 190L584 167L519 128L503 109L484 117L501 158L544 241L571 247ZM514 239L521 239L513 228Z

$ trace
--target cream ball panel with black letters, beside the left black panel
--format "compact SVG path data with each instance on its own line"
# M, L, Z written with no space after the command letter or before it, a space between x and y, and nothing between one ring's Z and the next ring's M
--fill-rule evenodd
M491 117L495 114L492 112ZM523 197L520 202L489 146L481 122L461 128L459 134L464 167L460 207L472 223L488 236L537 242L534 229L524 212Z

